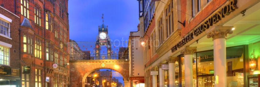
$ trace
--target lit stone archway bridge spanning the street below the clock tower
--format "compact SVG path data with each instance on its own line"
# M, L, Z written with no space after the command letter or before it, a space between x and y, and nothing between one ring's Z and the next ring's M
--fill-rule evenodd
M80 60L69 61L69 63L69 87L84 87L87 75L97 69L111 69L117 71L123 76L124 83L128 84L129 61L127 60Z

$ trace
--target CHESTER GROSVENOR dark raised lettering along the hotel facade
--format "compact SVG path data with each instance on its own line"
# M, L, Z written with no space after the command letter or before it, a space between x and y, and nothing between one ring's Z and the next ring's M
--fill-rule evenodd
M223 8L219 9L213 15L204 20L201 25L197 26L191 33L184 37L184 39L182 39L179 43L174 45L171 48L172 52L176 51L178 48L182 47L184 44L191 41L194 36L198 36L206 29L209 29L210 26L220 21L226 15L229 15L231 12L235 11L235 9L237 9L236 2L237 0L230 0L228 5L225 5Z

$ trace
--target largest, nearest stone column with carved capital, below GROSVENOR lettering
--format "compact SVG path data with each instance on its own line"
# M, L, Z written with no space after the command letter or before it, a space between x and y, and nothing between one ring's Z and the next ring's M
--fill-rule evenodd
M207 38L213 38L214 75L218 76L218 84L215 84L215 87L227 87L226 37L233 33L232 27L216 26L215 30L207 34Z

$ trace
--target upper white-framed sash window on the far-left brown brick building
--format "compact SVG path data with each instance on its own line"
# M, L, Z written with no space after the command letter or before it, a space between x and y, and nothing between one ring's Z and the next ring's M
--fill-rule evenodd
M0 25L1 25L0 33L2 35L10 37L10 24L7 23L6 21L0 19Z

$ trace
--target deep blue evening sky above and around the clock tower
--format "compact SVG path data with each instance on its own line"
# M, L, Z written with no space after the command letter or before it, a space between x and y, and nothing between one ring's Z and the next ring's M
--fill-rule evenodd
M136 0L69 0L69 39L95 42L98 25L108 25L112 41L126 40L139 23ZM118 43L118 42L117 42Z

